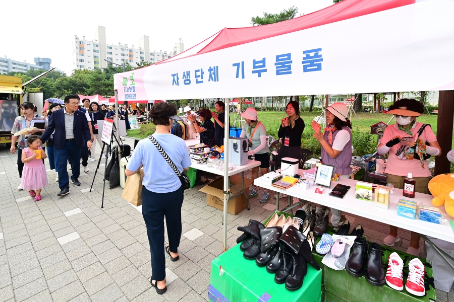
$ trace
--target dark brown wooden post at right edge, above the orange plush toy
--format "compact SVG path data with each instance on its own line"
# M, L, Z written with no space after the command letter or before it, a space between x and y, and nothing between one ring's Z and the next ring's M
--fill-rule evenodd
M452 147L452 122L454 121L454 90L440 91L438 94L437 141L441 155L435 157L435 175L449 173L450 162L446 154Z

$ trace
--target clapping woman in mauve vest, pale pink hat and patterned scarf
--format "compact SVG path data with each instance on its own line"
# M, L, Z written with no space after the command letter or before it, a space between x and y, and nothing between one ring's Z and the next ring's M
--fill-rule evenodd
M326 108L325 132L320 132L320 124L312 121L313 136L321 145L321 158L324 164L335 167L334 173L342 178L352 174L352 122L347 119L348 109L344 103L334 103ZM331 209L331 224L337 226L345 221L342 211Z

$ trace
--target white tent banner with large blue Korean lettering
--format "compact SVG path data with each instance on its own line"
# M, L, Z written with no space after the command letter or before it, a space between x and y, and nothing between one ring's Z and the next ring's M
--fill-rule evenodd
M119 100L454 90L454 1L426 0L117 73Z

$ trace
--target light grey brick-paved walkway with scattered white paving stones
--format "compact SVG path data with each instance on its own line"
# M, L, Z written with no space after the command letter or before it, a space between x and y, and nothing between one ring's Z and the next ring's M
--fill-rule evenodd
M130 139L125 143L134 145ZM89 163L88 173L81 172L82 185L71 184L71 193L65 197L56 196L60 191L56 174L48 171L49 186L39 202L27 191L17 190L16 161L16 155L0 147L0 301L208 299L211 260L222 252L222 212L206 205L200 187L185 192L180 260L166 259L168 289L158 295L148 281L150 248L140 208L121 198L121 187L110 190L106 182L101 209L103 170L89 192L97 161ZM263 221L275 209L275 199L261 204L259 197L251 199L250 211L228 215L229 247L241 235L237 226L249 219ZM353 215L348 218L352 228L362 224L370 240L380 243L386 236L384 224ZM403 240L396 248L406 251L410 233L400 232ZM437 298L454 301L454 293L437 291Z

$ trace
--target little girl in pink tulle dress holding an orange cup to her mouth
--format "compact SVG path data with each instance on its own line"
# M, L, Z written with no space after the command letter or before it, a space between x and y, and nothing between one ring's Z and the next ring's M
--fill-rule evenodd
M35 201L41 200L41 190L47 186L46 168L41 159L47 158L47 155L41 148L41 139L37 135L31 135L27 138L27 148L22 150L22 163L24 170L22 172L21 186L28 190Z

